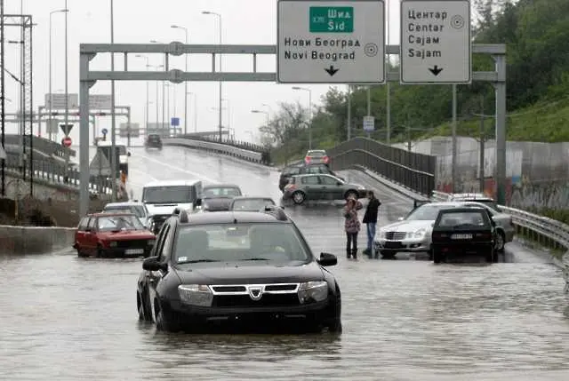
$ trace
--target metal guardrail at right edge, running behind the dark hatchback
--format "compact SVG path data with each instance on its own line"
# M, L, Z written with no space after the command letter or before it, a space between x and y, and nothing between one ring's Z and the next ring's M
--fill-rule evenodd
M434 201L447 201L451 194L433 191ZM539 216L525 210L498 205L501 211L512 216L517 233L554 250L569 250L569 225L553 218Z

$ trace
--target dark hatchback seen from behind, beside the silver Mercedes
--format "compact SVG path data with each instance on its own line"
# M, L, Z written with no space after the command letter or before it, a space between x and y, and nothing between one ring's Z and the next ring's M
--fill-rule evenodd
M451 256L475 255L483 256L486 262L495 262L495 226L485 208L440 210L432 232L433 261L440 263Z

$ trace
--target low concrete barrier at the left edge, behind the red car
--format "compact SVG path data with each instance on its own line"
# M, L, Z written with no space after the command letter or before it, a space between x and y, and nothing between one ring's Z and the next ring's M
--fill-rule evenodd
M0 254L44 254L71 249L73 227L0 225Z

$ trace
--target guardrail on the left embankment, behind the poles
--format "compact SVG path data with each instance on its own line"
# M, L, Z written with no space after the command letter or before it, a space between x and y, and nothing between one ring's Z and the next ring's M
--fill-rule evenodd
M6 170L12 176L21 176L20 156L12 152L6 152ZM34 171L33 179L41 180L45 185L52 187L67 188L69 190L77 190L79 188L79 171L69 169L67 176L65 165L54 161L36 159L33 160L32 170ZM26 177L29 176L29 163L26 163ZM110 194L111 182L109 179L99 179L97 176L91 176L89 180L89 191L92 194Z

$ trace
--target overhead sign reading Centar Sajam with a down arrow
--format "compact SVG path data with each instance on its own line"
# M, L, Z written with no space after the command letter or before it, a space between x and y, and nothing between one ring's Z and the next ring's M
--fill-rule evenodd
M471 83L471 48L469 0L401 0L401 83Z

